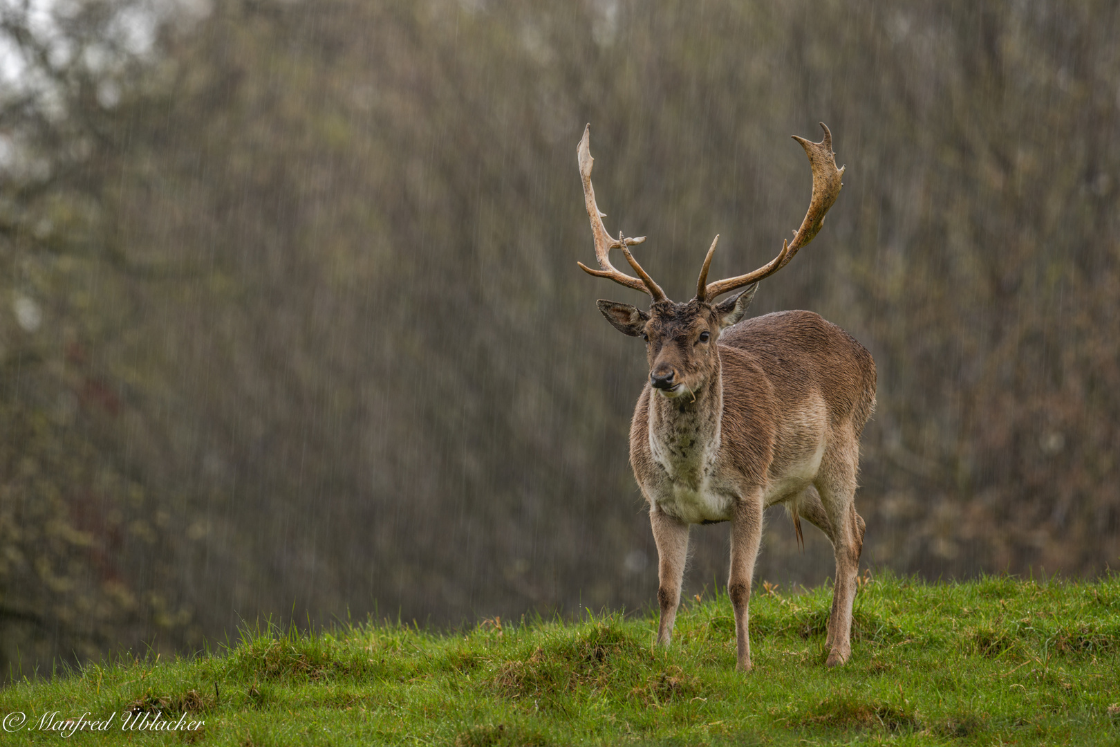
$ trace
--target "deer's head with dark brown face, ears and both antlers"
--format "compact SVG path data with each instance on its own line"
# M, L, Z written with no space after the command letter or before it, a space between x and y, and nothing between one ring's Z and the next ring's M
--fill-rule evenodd
M719 355L716 340L724 328L735 324L747 312L747 307L754 298L758 282L785 267L802 246L808 244L821 230L824 214L837 199L842 186L840 178L843 168L838 169L832 152L832 133L821 123L824 138L821 142L810 142L794 136L809 156L813 171L813 195L809 212L794 232L793 242L783 242L782 251L767 264L736 278L727 278L708 282L708 268L719 236L711 242L708 255L700 269L697 280L697 295L685 304L670 300L653 278L642 269L631 246L641 244L645 236L637 239L612 239L603 224L605 213L599 212L595 202L595 189L591 187L591 167L595 159L590 151L590 131L588 124L584 138L579 141L579 174L584 181L584 203L591 221L591 233L595 236L595 255L599 262L598 270L592 270L582 262L579 267L597 278L614 280L620 286L644 291L650 296L648 311L617 301L598 301L599 311L618 332L631 337L642 337L646 344L646 356L650 364L650 384L661 394L675 398L681 395L696 396L696 393L719 370ZM628 276L610 263L612 249L620 249L623 256L637 273L637 278ZM724 293L748 286L738 296L725 301L715 299Z

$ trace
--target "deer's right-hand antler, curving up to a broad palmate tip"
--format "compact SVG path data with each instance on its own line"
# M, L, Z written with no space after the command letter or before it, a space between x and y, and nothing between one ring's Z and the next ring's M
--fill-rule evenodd
M708 265L711 264L711 255L716 251L716 242L711 242L711 249L708 250L703 269L700 271L700 279L697 281L698 299L701 301L709 300L729 290L749 286L763 278L768 278L784 268L793 259L793 255L797 253L797 250L811 242L816 232L821 230L821 224L824 223L824 214L832 207L832 203L837 202L837 195L840 194L840 187L843 186L840 181L843 167L837 168L836 153L832 152L832 133L829 132L824 122L820 124L821 129L824 130L824 139L820 142L810 142L804 138L793 136L793 139L800 142L801 147L805 149L805 155L809 156L809 165L813 169L813 196L809 200L809 212L805 213L805 220L801 222L801 227L794 232L793 242L787 243L783 241L782 251L778 252L778 255L754 272L706 284ZM585 134L584 138L586 139L587 136ZM588 172L590 172L590 169L588 169ZM585 184L590 186L590 183L586 179ZM719 236L716 236L716 240L718 241Z

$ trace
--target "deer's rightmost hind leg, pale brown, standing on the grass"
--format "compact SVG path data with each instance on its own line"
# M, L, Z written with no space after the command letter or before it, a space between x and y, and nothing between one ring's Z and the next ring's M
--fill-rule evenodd
M832 530L829 539L836 553L837 573L829 616L829 666L848 661L851 655L851 608L856 599L859 555L864 549L864 520L856 513L856 461L838 458L822 465L814 483L821 506ZM806 515L808 519L808 515ZM814 522L815 523L815 522Z

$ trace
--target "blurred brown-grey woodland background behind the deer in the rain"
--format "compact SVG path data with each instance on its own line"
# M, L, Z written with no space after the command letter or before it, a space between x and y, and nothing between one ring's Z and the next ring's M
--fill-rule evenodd
M1120 555L1120 6L0 2L0 655L261 615L637 609L640 343L576 167L691 296L844 189L755 312L875 356L865 564ZM696 527L691 592L722 583ZM771 519L758 577L819 583ZM15 664L13 664L15 663ZM48 666L45 664L45 666Z

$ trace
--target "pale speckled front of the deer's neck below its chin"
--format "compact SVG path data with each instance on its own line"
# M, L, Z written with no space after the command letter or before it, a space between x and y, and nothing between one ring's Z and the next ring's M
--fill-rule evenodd
M651 392L648 431L653 458L669 478L699 489L719 456L724 385L718 366L693 394L670 399Z

